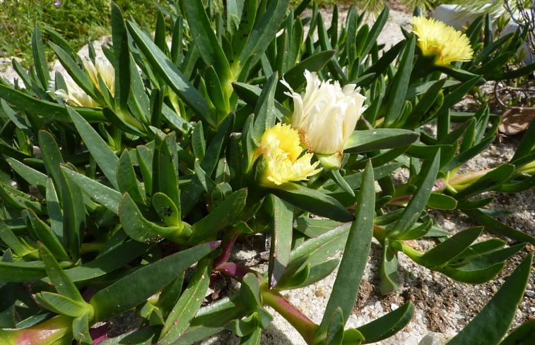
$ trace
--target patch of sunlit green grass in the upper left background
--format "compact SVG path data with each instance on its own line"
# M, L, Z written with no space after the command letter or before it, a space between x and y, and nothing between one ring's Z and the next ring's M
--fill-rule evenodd
M155 23L153 0L115 0L125 18L148 28ZM0 56L31 61L31 37L35 25L54 28L79 49L88 41L110 35L108 0L4 0L0 3ZM52 58L52 53L49 53Z

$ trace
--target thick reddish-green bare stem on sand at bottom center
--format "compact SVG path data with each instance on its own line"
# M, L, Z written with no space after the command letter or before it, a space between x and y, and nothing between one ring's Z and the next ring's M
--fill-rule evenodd
M284 298L281 293L278 293L274 289L269 289L267 284L260 286L260 294L266 305L274 308L277 313L281 314L282 317L290 322L290 325L297 329L307 344L312 344L313 336L318 326L307 315L303 314L301 310Z

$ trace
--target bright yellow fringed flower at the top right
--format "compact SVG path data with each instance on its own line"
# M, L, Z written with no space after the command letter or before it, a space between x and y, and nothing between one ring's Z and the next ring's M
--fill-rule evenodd
M436 56L437 66L447 66L453 61L469 61L474 56L468 37L439 20L413 17L411 28L418 36L418 47L422 54Z

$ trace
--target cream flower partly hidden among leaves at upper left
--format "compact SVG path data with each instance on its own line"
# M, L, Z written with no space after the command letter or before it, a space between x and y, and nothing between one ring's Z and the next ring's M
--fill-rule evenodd
M110 91L110 94L113 96L115 94L115 71L110 61L102 58L95 59L95 63L90 59L83 59L82 61L91 83L102 92L100 84L98 83L98 77L100 76L107 89ZM56 95L64 99L65 102L74 105L75 107L100 107L100 104L78 86L70 75L66 76L65 83L67 90L60 89L54 92Z

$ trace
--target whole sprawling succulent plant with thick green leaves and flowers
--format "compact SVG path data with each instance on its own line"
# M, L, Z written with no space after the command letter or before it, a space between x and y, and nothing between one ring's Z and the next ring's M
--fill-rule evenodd
M339 25L336 7L325 23L310 1L160 10L151 33L112 3L104 56L90 45L81 58L37 26L33 65L14 61L20 79L0 83L2 344L193 344L223 329L259 344L273 318L266 306L307 344L380 341L414 306L346 328L372 238L383 294L398 287L399 255L466 284L521 255L447 344L533 340L534 320L510 325L535 238L498 222L486 192L533 188L535 126L508 162L460 173L495 140L500 116L488 104L452 110L486 80L533 73L535 64L511 67L528 30L496 37L482 16L459 32L416 10L405 39L385 48L388 8L372 25L356 8ZM67 73L50 75L45 45ZM428 210L481 226L450 234ZM271 238L266 272L231 255L257 234ZM424 237L435 246L411 246ZM317 324L281 294L336 268ZM240 288L205 301L221 277ZM107 321L128 310L139 328L106 339Z

